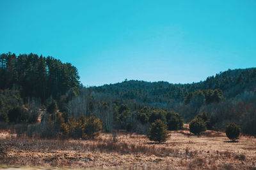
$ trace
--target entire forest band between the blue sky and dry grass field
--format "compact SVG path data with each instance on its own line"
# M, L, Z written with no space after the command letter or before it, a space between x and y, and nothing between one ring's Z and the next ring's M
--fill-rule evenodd
M95 138L100 131L148 134L202 117L207 129L234 122L256 135L256 68L234 69L205 81L173 84L124 80L84 87L75 66L36 54L0 55L0 126L40 138Z

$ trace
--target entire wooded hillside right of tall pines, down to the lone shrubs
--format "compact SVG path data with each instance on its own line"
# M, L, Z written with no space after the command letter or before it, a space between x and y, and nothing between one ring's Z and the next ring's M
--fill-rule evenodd
M229 69L198 83L125 80L91 89L94 96L113 101L116 97L130 108L145 105L172 110L186 122L205 112L216 129L224 129L232 121L241 125L244 133L256 134L256 68Z

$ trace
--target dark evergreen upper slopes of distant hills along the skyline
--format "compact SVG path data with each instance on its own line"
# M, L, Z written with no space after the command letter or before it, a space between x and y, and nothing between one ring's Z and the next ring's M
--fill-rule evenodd
M256 68L228 70L205 81L191 84L172 84L165 81L130 80L92 88L95 93L111 94L121 99L134 99L149 106L170 107L182 103L189 92L220 89L226 99L256 89Z

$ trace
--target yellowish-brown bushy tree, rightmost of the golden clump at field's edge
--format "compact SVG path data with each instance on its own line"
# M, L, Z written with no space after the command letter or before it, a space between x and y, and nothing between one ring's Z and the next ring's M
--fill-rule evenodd
M94 139L95 137L99 136L101 129L102 123L100 122L99 118L92 116L86 119L84 133L88 139Z

